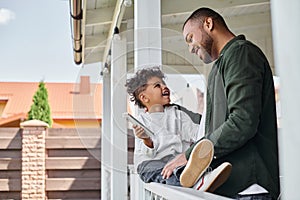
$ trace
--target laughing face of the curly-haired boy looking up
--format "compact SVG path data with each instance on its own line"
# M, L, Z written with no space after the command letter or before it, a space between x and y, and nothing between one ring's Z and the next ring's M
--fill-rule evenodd
M169 88L158 77L152 77L147 81L147 87L139 97L148 109L155 104L167 105L171 101Z

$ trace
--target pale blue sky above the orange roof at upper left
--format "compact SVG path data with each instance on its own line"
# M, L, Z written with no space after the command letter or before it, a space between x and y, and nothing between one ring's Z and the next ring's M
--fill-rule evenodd
M0 0L0 82L96 82L99 70L74 62L69 0Z

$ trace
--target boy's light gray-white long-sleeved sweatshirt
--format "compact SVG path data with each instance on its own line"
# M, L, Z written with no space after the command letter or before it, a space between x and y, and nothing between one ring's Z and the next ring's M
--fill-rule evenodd
M199 124L176 106L165 107L164 112L141 113L139 120L152 132L154 148L147 147L136 137L134 150L135 167L145 160L160 159L167 155L178 155L197 141Z

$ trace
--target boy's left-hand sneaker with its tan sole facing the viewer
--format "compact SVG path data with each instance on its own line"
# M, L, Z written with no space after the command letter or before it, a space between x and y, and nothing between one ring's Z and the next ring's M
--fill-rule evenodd
M191 156L180 176L183 187L192 187L209 167L214 156L214 145L208 139L203 139L196 144Z

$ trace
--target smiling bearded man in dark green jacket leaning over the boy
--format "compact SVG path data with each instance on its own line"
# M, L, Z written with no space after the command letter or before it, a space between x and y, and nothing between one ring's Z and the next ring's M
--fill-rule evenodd
M211 167L232 164L215 193L237 199L277 199L278 141L272 72L263 52L235 36L209 8L196 10L183 25L191 53L214 61L208 77L205 138L214 144ZM166 177L184 165L193 146L169 162Z

